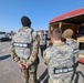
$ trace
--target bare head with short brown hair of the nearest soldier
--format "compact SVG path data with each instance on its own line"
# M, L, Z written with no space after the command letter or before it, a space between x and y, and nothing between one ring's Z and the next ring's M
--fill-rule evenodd
M51 31L51 39L54 40L61 40L62 39L62 31L59 28L55 28L54 30Z

